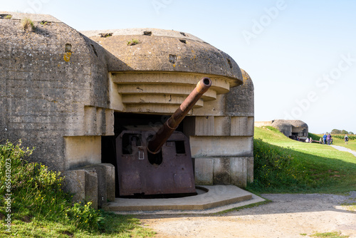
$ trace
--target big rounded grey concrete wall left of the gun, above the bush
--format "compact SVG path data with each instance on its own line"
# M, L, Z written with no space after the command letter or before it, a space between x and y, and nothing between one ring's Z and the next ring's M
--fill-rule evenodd
M25 16L35 31L22 29ZM43 20L50 23L39 24ZM14 14L0 21L0 140L21 138L23 145L36 147L31 159L65 170L72 163L65 165L63 148L70 140L63 137L113 133L102 123L112 118L103 109L109 103L106 53L51 16ZM85 110L88 106L95 112Z

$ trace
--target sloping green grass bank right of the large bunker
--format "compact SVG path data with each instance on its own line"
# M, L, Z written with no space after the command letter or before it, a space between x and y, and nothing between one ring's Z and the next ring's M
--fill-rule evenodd
M247 187L251 192L356 190L356 157L349 152L290 140L272 127L255 128L253 143L254 181Z

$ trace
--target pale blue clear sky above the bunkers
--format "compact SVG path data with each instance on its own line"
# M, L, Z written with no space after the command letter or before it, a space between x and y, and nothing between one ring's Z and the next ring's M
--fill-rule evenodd
M356 133L354 0L0 0L83 30L184 31L228 53L252 78L255 120L299 119L312 133Z

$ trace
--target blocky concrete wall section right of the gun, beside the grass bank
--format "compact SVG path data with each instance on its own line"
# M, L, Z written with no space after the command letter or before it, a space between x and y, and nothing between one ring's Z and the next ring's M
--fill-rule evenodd
M193 110L184 120L198 185L253 182L253 83L242 70L244 84Z

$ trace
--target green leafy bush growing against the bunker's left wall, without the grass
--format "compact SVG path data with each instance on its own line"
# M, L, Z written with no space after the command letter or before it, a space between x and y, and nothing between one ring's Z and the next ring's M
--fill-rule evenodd
M11 218L28 221L32 218L64 222L84 230L98 230L100 211L71 202L63 192L61 172L48 170L38 162L26 162L33 149L6 142L0 145L0 212L6 214L11 197Z

